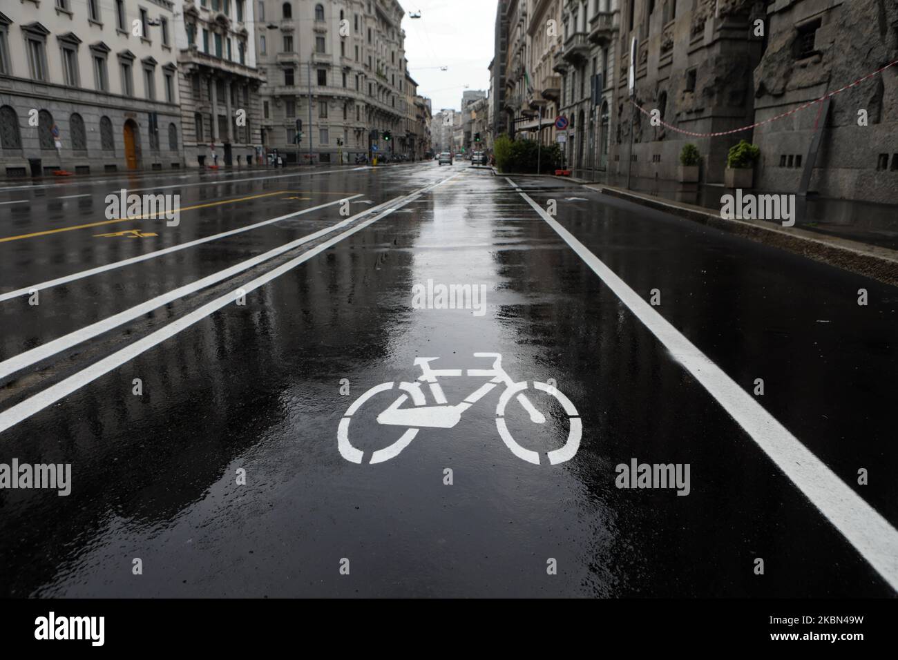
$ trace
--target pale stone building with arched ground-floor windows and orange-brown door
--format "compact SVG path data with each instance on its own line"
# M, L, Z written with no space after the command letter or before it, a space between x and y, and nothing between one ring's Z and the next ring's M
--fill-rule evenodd
M173 9L0 4L0 176L182 167Z

